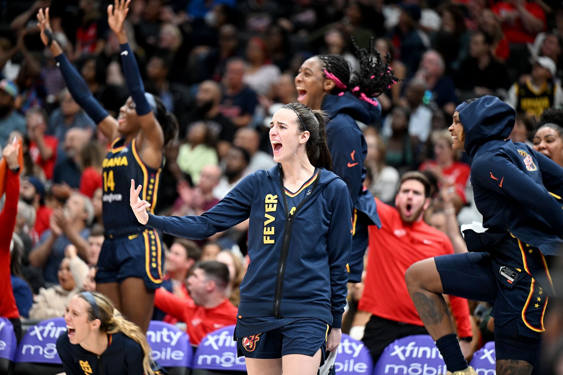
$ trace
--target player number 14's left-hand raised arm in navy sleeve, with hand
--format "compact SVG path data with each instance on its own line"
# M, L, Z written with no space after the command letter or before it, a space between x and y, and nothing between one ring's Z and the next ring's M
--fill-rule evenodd
M53 40L53 33L49 20L49 8L43 12L42 9L37 13L37 21L39 29L41 30L41 41L46 47L51 49L51 53L57 62L57 66L61 69L62 77L65 79L66 87L68 87L70 94L74 101L94 120L101 132L104 133L108 139L115 139L119 136L117 131L117 120L108 114L108 111L100 105L99 102L92 96L90 88L82 75L78 73L76 68L70 64L68 58L62 52L56 40Z

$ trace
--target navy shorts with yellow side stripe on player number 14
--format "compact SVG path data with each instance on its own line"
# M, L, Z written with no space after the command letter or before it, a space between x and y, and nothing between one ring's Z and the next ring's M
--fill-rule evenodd
M106 237L98 259L96 283L121 283L141 278L148 290L162 284L164 249L153 229L124 236Z

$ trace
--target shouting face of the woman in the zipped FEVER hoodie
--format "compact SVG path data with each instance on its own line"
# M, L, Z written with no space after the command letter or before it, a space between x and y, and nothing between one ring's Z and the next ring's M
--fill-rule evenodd
M284 163L292 159L298 162L296 155L305 151L309 132L300 132L298 123L301 124L301 121L296 113L287 107L275 112L270 123L270 142L275 162Z

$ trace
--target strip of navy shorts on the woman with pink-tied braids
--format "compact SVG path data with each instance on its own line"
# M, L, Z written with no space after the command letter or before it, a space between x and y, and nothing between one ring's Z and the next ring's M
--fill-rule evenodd
M348 282L361 282L361 273L364 272L364 255L368 248L368 221L367 217L354 209L352 216L352 252L348 260Z

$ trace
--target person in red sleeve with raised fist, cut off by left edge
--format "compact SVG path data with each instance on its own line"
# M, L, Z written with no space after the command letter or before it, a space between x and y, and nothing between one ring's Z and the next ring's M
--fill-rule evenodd
M10 319L17 341L20 340L21 322L10 279L10 242L16 225L17 197L20 192L20 166L17 164L18 146L8 144L2 151L6 159L6 203L0 213L0 317Z

